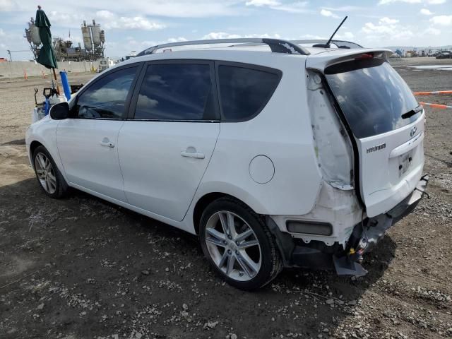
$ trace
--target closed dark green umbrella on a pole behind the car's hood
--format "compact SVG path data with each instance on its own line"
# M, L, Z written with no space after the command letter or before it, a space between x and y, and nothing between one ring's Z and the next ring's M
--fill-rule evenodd
M58 68L57 58L55 58L55 52L52 47L52 33L50 32L49 18L42 11L41 6L37 6L35 25L40 30L40 38L42 47L40 49L40 55L37 57L37 62L46 66L47 69L53 69L54 78L57 81L57 74L55 69ZM59 93L59 86L57 82L57 90Z

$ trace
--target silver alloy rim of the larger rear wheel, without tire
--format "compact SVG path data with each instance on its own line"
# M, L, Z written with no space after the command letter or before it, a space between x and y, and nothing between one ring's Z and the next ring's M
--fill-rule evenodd
M230 211L218 211L206 225L206 245L215 265L237 281L253 279L261 270L258 238L245 220Z

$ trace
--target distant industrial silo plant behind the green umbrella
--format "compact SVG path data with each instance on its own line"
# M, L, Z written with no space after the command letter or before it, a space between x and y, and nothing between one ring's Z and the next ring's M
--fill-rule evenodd
M83 20L81 25L83 47L81 43L73 47L73 42L69 39L64 40L61 37L54 37L53 47L57 61L96 61L104 58L105 32L100 29L100 25L93 20L92 25L86 25ZM39 29L35 25L33 18L28 22L28 28L25 28L25 36L30 44L30 50L33 57L37 60L40 54L41 39Z

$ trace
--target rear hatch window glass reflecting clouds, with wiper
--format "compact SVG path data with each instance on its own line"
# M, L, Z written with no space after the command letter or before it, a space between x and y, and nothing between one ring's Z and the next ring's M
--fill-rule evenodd
M410 88L382 59L336 64L325 76L357 138L393 131L420 117Z

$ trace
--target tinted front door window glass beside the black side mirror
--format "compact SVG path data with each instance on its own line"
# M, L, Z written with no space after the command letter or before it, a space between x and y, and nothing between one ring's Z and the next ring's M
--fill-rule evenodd
M124 117L126 99L137 67L121 69L90 85L77 99L79 118L120 119Z

